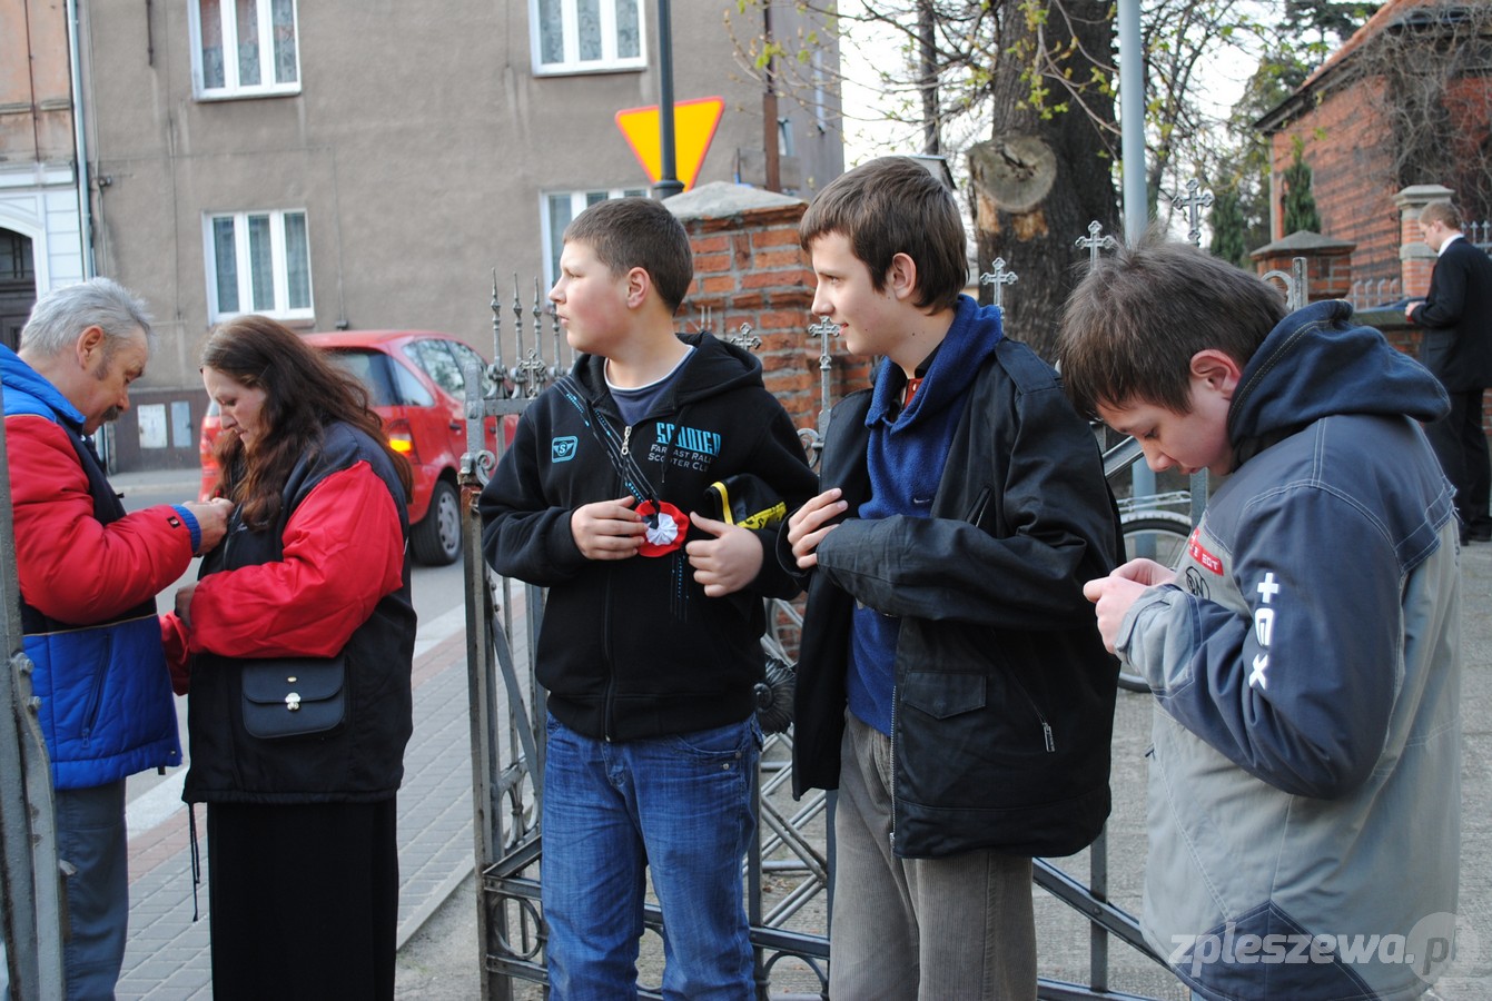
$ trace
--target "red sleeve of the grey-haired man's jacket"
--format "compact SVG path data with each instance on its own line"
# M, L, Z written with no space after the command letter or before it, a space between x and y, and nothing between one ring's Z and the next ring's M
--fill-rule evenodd
M94 518L88 476L69 431L46 418L6 418L15 555L21 595L63 622L90 625L125 612L186 573L191 530L169 504Z

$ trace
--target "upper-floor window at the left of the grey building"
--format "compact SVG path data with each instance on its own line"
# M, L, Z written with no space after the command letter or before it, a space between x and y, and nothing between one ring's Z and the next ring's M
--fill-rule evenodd
M300 92L295 0L189 0L197 97Z

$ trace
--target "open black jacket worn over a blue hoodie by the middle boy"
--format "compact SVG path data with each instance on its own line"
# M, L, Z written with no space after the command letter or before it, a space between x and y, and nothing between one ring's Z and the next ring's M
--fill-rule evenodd
M867 498L870 392L834 407L821 465ZM782 533L779 556L791 564ZM1119 552L1092 431L1050 367L1003 340L970 388L931 518L840 522L803 624L794 791L840 776L853 601L901 616L892 838L904 858L1070 855L1109 816L1116 664L1085 580Z

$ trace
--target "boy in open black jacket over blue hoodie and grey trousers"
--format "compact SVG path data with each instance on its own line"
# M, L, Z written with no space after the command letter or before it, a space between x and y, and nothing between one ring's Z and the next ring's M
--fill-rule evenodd
M885 355L833 410L830 489L783 528L812 571L794 791L839 789L836 998L1034 998L1031 856L1109 816L1116 667L1083 600L1118 516L1056 374L961 294L953 195L916 161L798 225L813 312Z

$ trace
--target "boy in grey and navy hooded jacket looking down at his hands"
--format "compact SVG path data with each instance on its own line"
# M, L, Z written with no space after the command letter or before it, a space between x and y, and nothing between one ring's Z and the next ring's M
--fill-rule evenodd
M1453 958L1459 556L1423 367L1146 240L1067 304L1077 407L1213 492L1174 568L1088 583L1155 691L1143 928L1206 998L1414 998Z

